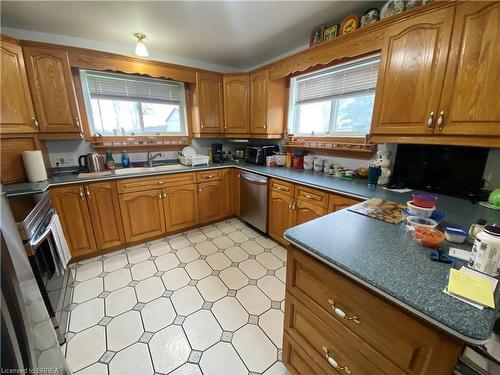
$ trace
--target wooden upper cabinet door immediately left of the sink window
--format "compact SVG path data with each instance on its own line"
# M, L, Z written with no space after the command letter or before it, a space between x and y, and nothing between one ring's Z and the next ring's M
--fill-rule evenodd
M80 132L80 117L68 54L25 47L26 69L41 132Z

